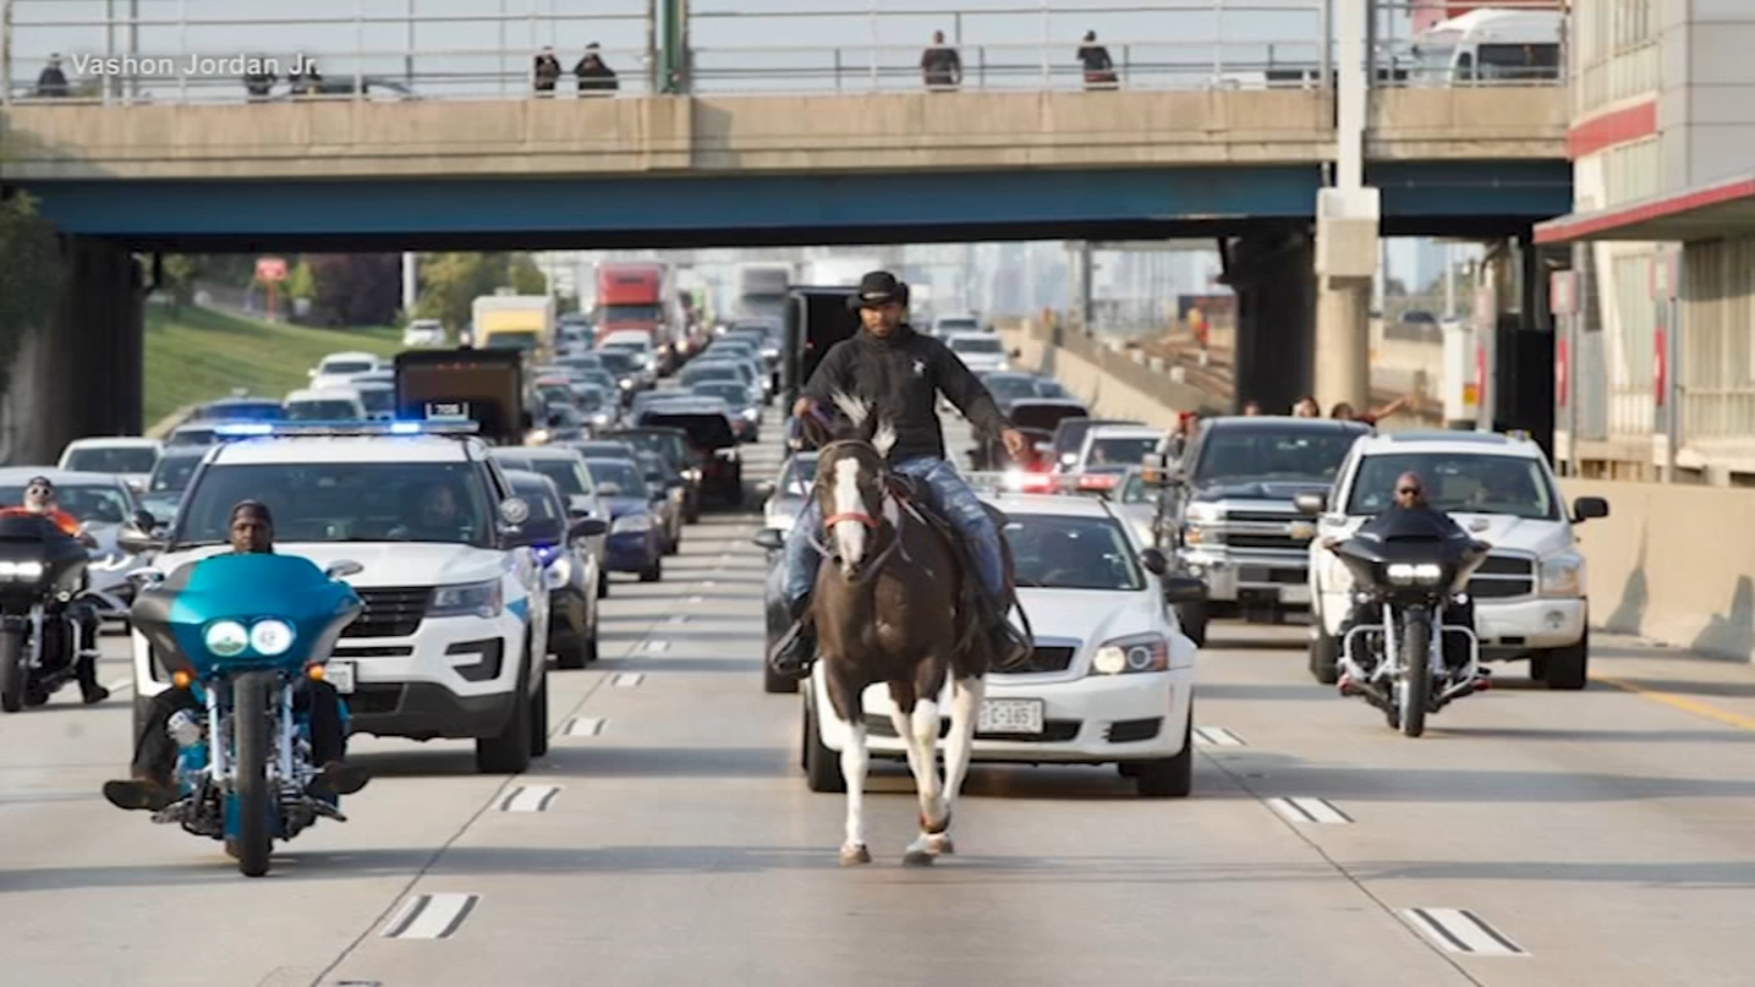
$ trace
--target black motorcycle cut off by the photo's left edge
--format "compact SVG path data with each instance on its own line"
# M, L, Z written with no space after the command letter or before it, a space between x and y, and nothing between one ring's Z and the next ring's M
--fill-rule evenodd
M0 516L0 710L42 706L77 678L81 652L97 648L90 562L49 518Z

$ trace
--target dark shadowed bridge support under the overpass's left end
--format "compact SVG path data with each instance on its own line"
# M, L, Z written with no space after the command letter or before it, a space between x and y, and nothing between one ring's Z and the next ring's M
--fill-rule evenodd
M140 434L140 265L105 241L61 239L61 300L19 349L5 399L5 462L54 462L84 436Z

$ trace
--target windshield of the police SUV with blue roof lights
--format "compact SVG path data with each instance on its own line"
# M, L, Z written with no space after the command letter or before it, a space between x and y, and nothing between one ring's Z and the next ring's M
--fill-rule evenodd
M493 543L493 513L474 464L214 464L177 513L172 544L226 541L232 506L274 511L274 537L293 541Z

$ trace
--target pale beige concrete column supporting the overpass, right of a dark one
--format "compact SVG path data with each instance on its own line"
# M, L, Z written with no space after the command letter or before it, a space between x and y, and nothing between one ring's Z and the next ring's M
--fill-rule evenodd
M1316 404L1371 409L1371 288L1378 276L1374 188L1316 195Z

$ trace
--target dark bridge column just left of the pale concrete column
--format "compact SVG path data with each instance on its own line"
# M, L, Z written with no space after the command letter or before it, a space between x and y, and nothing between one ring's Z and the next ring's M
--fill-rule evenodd
M1225 249L1225 283L1237 295L1232 411L1248 400L1285 414L1309 388L1316 281L1309 230L1250 234Z

